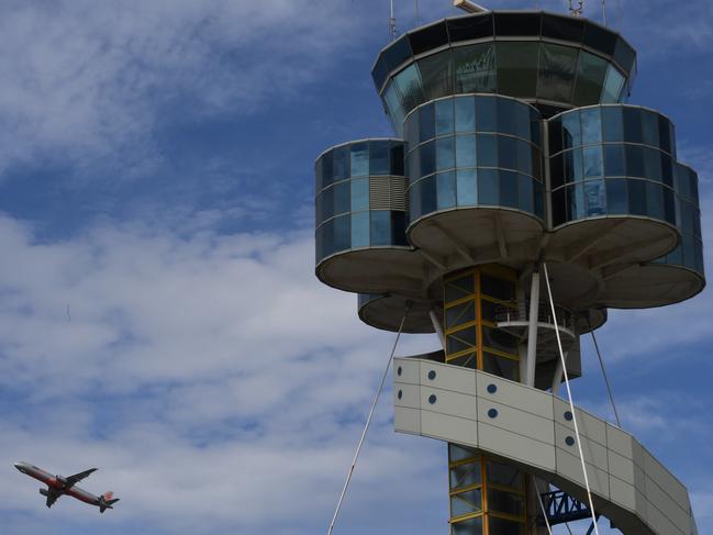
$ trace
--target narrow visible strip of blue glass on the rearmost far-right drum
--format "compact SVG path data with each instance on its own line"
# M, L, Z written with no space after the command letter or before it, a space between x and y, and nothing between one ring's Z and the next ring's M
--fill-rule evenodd
M653 264L682 266L705 278L703 268L703 237L701 235L701 209L698 196L698 175L690 167L675 166L675 185L679 214L681 243L671 253Z

